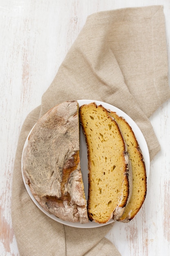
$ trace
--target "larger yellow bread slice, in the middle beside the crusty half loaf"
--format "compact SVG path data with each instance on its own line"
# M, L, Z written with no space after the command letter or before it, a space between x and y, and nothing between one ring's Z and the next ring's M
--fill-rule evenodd
M79 118L88 150L88 218L98 223L117 220L129 195L124 139L103 106L85 104Z

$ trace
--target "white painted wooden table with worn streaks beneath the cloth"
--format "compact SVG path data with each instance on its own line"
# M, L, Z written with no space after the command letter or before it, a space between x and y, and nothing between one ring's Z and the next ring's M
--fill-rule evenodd
M170 62L170 0L0 0L0 256L19 256L11 187L22 123L40 105L87 16L156 4L164 6ZM130 223L117 222L106 236L122 256L170 255L170 101L150 120L161 152L151 162L146 201Z

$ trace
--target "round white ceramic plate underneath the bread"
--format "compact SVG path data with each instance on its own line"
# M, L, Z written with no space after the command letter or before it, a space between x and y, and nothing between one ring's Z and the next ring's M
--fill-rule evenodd
M149 150L148 150L148 146L146 144L146 140L144 138L144 135L142 134L142 132L139 129L139 127L137 126L137 124L126 113L124 113L119 108L116 108L116 107L114 107L114 106L112 106L112 105L110 105L108 103L104 103L102 101L95 101L95 100L78 100L79 106L82 106L84 104L88 104L88 103L91 103L91 102L95 102L97 105L102 105L106 109L109 109L111 111L117 112L117 115L124 117L126 119L126 121L128 122L128 124L132 127L132 130L135 133L135 136L137 138L137 141L139 143L139 146L140 146L141 151L142 151L143 156L144 156L144 161L145 161L145 165L146 165L146 175L147 175L147 179L148 179L149 172L150 172ZM30 131L29 135L31 134L31 131ZM24 148L26 147L26 145L28 143L29 135L28 135L28 137L27 137L27 139L25 141ZM23 151L24 151L24 148L23 148ZM85 189L86 199L87 199L87 196L88 196L88 169L87 169L87 163L88 163L88 161L87 161L86 141L85 141L82 129L80 128L80 165L81 165L81 171L82 171L82 176L83 176L83 182L84 182L84 189ZM71 226L71 227L79 227L79 228L101 227L103 225L108 225L109 223L113 222L113 220L110 220L109 222L107 222L105 224L98 224L98 223L96 223L94 221L93 222L89 221L86 224L80 224L79 222L72 223L72 222L61 220L60 218L57 218L53 214L50 214L47 211L45 211L40 206L40 204L33 197L32 193L30 191L29 185L27 185L25 183L23 172L22 172L22 177L23 177L23 181L24 181L24 185L26 187L26 190L29 193L29 195L30 195L31 199L33 200L33 202L37 205L37 207L42 212L44 212L47 216L49 216L53 220L56 220L57 222L60 222L62 224L65 224L65 225L68 225L68 226Z

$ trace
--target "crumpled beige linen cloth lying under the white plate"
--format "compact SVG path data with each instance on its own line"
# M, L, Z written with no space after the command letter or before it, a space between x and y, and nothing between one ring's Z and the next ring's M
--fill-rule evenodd
M163 7L126 8L88 16L42 96L41 106L26 117L20 133L12 192L12 222L20 256L120 255L104 238L113 224L93 229L68 227L47 217L29 197L22 180L21 155L36 121L49 108L67 100L110 103L137 123L152 160L160 146L148 118L169 98Z

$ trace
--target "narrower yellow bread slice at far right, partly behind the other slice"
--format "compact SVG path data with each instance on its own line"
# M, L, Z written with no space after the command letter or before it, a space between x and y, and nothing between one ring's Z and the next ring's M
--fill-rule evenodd
M123 117L119 117L115 112L110 112L109 115L119 125L127 144L127 152L132 167L132 195L126 205L124 214L119 218L121 222L129 222L138 213L146 198L146 168L139 144L130 125Z

